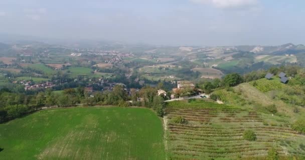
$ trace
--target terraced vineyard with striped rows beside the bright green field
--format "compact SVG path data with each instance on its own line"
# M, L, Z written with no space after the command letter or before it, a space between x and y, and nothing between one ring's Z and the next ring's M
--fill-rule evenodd
M304 155L305 135L287 123L263 124L260 113L204 101L170 102L166 109L170 159L264 159L274 147L279 155ZM183 116L187 123L172 119ZM251 129L255 141L243 138Z

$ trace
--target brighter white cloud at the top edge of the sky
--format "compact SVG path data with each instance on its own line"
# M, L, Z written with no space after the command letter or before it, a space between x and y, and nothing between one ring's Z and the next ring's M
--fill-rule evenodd
M257 4L257 0L190 0L194 3L213 4L219 8L238 8Z

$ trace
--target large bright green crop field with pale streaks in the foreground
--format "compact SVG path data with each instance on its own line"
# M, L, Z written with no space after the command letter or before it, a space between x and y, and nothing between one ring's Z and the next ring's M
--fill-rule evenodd
M41 110L0 124L1 159L165 159L163 126L146 108Z

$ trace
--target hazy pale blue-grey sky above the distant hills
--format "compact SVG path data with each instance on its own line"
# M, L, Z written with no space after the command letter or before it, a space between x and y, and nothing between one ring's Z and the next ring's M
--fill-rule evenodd
M0 33L158 45L305 44L305 0L0 0Z

